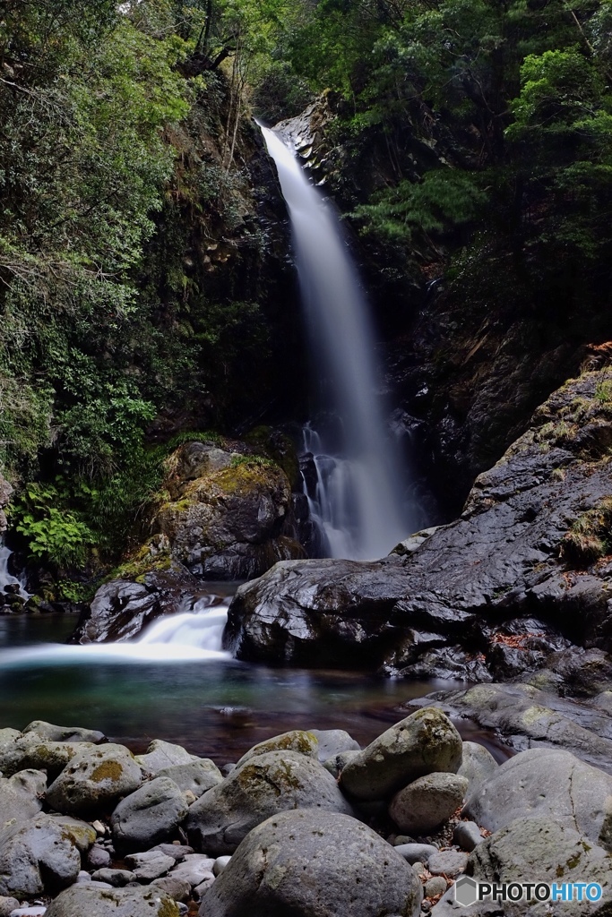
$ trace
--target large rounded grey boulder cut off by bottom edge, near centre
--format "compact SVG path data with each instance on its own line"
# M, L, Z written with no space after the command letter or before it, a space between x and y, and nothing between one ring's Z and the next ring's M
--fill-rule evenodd
M421 884L371 828L338 812L281 812L254 828L200 917L417 917Z

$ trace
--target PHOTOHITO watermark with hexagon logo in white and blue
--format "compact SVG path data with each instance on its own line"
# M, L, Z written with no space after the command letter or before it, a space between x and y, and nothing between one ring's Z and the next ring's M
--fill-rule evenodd
M598 882L479 882L460 876L455 882L455 900L463 907L476 901L590 901L601 899Z

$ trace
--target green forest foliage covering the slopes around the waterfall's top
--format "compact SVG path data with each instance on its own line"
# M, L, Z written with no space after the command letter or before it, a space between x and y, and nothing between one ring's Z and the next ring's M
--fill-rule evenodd
M524 282L562 264L596 298L611 77L612 0L6 0L0 458L30 551L112 558L159 481L155 418L207 399L231 429L245 381L267 397L265 291L185 267L194 226L268 250L245 117L327 94L368 172L351 219L423 279L504 249Z

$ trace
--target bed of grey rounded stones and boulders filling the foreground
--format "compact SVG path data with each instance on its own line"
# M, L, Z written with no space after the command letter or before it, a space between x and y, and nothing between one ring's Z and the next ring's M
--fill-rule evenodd
M295 730L221 769L37 721L0 731L0 768L2 917L444 917L463 875L597 883L589 913L612 912L612 777L560 749L500 766L434 706L365 748Z

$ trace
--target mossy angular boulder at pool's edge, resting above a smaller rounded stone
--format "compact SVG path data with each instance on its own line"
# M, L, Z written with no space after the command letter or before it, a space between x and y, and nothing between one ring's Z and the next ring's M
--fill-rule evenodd
M444 713L424 707L353 757L342 770L340 783L357 799L384 799L434 771L456 773L461 763L461 735Z

